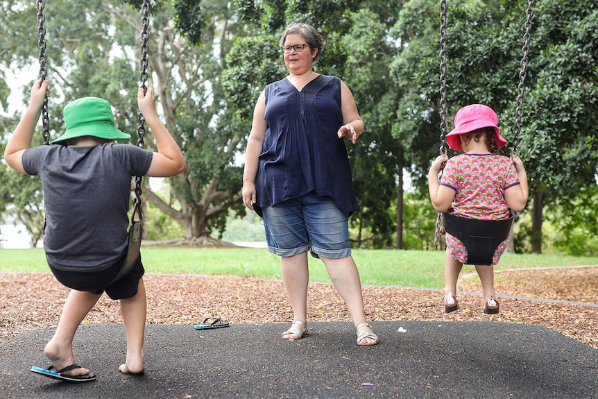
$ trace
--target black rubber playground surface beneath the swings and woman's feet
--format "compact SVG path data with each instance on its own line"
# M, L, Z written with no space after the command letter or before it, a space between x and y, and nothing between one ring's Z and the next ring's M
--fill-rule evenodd
M280 339L288 323L148 325L140 376L117 370L122 325L82 325L75 356L97 379L77 384L29 371L53 334L35 330L0 346L0 398L598 398L598 350L544 327L370 324L377 346L351 323L309 323L298 341Z

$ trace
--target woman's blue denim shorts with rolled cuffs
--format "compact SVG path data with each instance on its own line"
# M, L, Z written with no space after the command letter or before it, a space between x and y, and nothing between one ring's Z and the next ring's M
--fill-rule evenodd
M311 252L314 257L351 255L350 213L330 197L309 193L262 208L268 251L282 257Z

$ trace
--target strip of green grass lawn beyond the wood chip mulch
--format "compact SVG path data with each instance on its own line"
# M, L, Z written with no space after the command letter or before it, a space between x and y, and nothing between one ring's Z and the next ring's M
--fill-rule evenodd
M394 285L439 289L444 285L442 251L354 250L364 285ZM280 257L264 248L143 247L147 273L223 274L280 279ZM598 264L598 257L505 253L497 270ZM0 271L49 272L42 249L0 250ZM463 273L474 271L465 265ZM330 282L320 260L309 257L312 282Z

